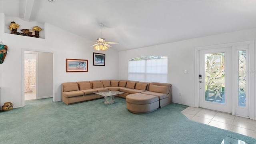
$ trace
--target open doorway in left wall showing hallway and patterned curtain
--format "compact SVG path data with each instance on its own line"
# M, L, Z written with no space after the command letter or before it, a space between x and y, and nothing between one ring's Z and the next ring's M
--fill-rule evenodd
M53 54L24 50L22 106L25 100L54 97Z

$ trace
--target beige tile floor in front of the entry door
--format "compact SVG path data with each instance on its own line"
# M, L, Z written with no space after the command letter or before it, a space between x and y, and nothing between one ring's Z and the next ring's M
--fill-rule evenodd
M256 138L256 120L191 106L182 110L182 114L196 122Z

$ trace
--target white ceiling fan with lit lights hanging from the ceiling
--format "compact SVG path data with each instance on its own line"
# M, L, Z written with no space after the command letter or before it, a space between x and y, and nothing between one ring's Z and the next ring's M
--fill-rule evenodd
M92 45L91 47L94 46L95 50L107 50L108 48L112 47L109 44L119 44L119 42L106 42L105 38L101 37L101 28L104 26L102 23L100 23L100 38L97 38L97 41L95 42L96 44Z

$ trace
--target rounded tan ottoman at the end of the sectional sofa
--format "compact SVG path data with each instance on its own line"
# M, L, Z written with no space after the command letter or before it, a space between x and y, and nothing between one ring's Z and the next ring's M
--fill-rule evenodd
M159 108L158 96L136 93L125 99L127 109L134 114L146 114Z

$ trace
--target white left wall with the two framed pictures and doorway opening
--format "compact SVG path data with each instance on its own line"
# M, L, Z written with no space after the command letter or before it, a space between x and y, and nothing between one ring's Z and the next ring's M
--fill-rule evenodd
M12 20L13 19L13 20ZM61 83L85 80L118 79L118 52L109 48L105 66L93 66L92 43L80 36L44 24L45 38L32 38L5 33L11 21L23 24L20 18L6 18L0 13L0 41L8 46L9 53L0 64L0 105L11 101L14 108L22 106L22 50L54 53L54 86L56 101L61 100ZM26 23L24 23L26 24ZM39 25L40 23L38 23ZM30 26L24 26L30 27ZM66 58L88 60L88 72L66 72ZM104 73L103 73L104 72Z

